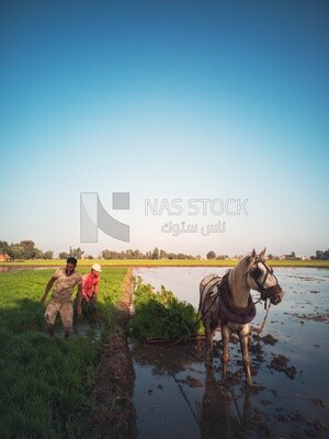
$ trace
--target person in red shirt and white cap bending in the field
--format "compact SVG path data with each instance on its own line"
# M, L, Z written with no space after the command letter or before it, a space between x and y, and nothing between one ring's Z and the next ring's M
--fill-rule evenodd
M83 274L82 277L82 311L83 314L94 323L95 307L99 294L100 274L101 266L99 263L93 263L90 273ZM79 296L75 300L75 312L76 316L78 313Z

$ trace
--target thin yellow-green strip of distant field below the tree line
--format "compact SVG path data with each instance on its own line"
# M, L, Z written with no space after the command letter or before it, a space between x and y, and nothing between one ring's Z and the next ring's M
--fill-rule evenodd
M235 267L237 259L211 259L211 260L192 260L192 259L81 259L78 261L78 269L89 268L92 263L99 262L102 267ZM272 267L314 267L329 268L329 260L268 260ZM24 260L12 262L0 262L0 267L63 267L64 260Z

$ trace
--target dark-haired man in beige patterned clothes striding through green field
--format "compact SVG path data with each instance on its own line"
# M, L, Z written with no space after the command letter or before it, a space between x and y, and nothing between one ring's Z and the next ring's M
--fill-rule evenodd
M73 305L72 294L73 289L78 285L78 304L77 314L81 314L81 299L82 299L82 277L76 271L77 259L68 258L66 261L66 268L57 269L53 278L46 285L45 294L41 299L41 303L44 303L47 299L48 292L54 285L53 295L48 306L45 311L46 328L50 336L54 335L54 326L57 313L60 314L64 337L69 338L70 334L73 333L72 320L73 320Z

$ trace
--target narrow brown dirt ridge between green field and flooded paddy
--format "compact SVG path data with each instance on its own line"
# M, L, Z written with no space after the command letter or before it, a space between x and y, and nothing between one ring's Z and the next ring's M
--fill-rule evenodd
M124 300L115 319L115 333L103 344L95 374L91 414L92 437L137 438L136 413L132 403L135 372L126 329L131 317L132 269L127 270Z

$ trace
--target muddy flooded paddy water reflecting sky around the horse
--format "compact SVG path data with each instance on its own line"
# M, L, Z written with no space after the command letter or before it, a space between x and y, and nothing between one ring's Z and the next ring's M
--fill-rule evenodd
M164 285L198 304L198 282L226 269L136 269L145 283ZM220 381L220 342L206 371L202 342L171 347L132 345L136 372L134 405L139 438L328 438L329 270L275 269L285 291L264 330L252 334L254 385L245 387L241 354L230 344L229 376ZM254 299L258 294L254 293ZM258 304L253 326L264 309ZM220 338L220 336L219 336Z

